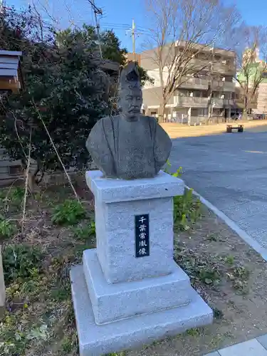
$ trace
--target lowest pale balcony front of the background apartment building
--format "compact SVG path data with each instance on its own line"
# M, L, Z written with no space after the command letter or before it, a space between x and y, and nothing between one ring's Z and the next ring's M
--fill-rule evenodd
M234 105L233 99L212 98L214 108L224 108L229 105ZM174 105L180 108L207 108L209 98L197 98L193 96L174 96Z

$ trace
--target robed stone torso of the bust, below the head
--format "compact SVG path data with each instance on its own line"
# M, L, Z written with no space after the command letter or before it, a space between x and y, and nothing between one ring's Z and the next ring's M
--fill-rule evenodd
M127 121L103 117L90 132L86 147L105 177L155 177L167 161L172 142L154 117Z

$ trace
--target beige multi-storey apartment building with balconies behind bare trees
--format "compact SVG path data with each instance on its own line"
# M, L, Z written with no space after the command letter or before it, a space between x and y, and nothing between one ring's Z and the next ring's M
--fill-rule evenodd
M184 43L179 42L175 47L181 51ZM235 98L235 53L197 44L194 51L190 60L194 70L183 78L183 83L169 99L164 117L166 121L194 125L196 122L205 122L208 115L218 120L231 116ZM143 88L143 108L147 115L157 116L162 88L155 50L141 53L141 66L155 80L154 85L147 83ZM168 68L164 68L164 80L167 73Z

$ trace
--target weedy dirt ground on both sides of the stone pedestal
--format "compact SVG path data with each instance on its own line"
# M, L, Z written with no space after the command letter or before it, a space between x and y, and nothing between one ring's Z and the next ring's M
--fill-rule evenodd
M69 268L80 263L85 248L95 246L95 236L88 228L93 219L92 195L84 179L76 180L75 188L88 211L77 226L51 222L55 206L74 197L71 189L43 188L28 199L23 235L2 241L5 247L40 248L41 264L30 271L30 278L7 283L6 319L0 324L0 340L6 348L0 347L0 355L78 356ZM2 197L5 194L6 190ZM15 192L10 194L14 200L9 199L9 209L2 214L19 221L21 207ZM113 356L201 356L267 333L267 268L261 256L205 208L197 224L175 232L174 241L174 259L213 308L214 324Z

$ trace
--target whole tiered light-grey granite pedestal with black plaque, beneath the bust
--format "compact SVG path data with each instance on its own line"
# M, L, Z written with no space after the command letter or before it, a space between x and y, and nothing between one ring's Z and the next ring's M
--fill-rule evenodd
M97 248L70 271L80 356L98 356L212 322L212 310L173 260L172 197L182 180L105 179L86 173L95 196Z

